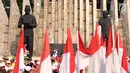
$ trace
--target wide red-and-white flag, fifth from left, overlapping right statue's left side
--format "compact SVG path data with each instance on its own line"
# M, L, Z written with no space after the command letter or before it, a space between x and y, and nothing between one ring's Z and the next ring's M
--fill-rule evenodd
M91 57L89 60L88 73L104 73L105 72L105 54L106 43L102 42L101 26L96 25L95 35L92 38L88 48Z

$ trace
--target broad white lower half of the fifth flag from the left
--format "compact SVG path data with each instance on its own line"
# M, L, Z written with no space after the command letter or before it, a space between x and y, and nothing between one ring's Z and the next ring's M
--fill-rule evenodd
M105 73L106 48L101 46L89 61L88 73Z

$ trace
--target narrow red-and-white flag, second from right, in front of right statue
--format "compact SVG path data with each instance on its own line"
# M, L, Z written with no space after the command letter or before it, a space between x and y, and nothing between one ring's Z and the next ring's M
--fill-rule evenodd
M117 49L115 48L114 32L112 25L109 29L108 46L106 50L106 73L119 73L120 63Z

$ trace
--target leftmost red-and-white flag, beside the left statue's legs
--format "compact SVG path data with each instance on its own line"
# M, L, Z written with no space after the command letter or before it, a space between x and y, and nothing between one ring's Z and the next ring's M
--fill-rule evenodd
M18 43L14 73L23 73L24 70L24 49L23 48L24 48L24 29L22 29L22 33L20 35L20 40Z

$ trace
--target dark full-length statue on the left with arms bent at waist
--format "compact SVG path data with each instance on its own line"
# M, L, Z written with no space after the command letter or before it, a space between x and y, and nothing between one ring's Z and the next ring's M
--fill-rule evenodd
M36 18L30 14L30 6L25 6L25 14L19 18L18 28L24 28L24 44L29 51L28 57L31 59L33 55L33 28L37 27Z

